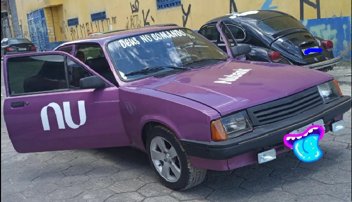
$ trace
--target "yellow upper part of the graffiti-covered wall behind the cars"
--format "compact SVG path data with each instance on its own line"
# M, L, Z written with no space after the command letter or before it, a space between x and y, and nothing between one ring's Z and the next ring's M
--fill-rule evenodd
M316 3L317 0L310 0ZM316 19L317 10L303 4L300 0L181 0L184 7L157 10L156 0L16 0L19 20L22 20L24 36L29 38L26 14L37 9L45 9L50 42L66 41L86 37L90 32L125 29L144 26L145 24L175 23L183 26L190 13L186 27L199 29L212 18L229 14L230 2L235 2L238 12L272 9L288 13L297 19L303 14L304 19ZM138 4L139 3L139 4ZM131 5L138 8L133 13ZM49 7L53 8L53 19ZM272 7L272 8L270 8ZM276 8L277 7L277 8ZM106 12L107 20L91 22L91 14ZM320 0L320 17L340 17L351 15L350 0ZM78 26L67 26L67 20L77 18ZM55 29L55 34L54 34Z

